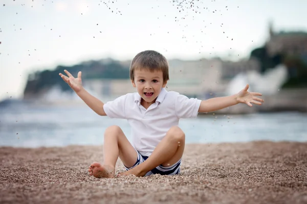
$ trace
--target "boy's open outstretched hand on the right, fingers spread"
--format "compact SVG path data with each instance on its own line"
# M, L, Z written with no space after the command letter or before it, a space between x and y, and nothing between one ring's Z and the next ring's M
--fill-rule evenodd
M264 100L256 96L261 96L262 94L257 92L248 92L248 88L249 85L246 85L246 87L237 94L236 99L238 103L247 104L250 107L253 106L252 103L256 105L261 105Z

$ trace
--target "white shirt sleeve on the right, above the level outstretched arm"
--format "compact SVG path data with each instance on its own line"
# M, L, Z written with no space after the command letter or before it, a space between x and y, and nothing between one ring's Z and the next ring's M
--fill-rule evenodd
M175 99L175 111L179 118L195 118L198 116L202 100L197 98L188 98L185 95L178 94Z

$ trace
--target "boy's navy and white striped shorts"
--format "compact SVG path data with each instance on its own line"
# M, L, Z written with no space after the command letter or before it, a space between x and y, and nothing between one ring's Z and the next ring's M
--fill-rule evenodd
M129 170L131 168L138 166L139 164L143 163L148 158L147 156L141 155L140 152L138 152L138 151L137 151L137 153L138 153L137 162L135 163L135 165L133 165L130 168L127 168L125 166L126 170ZM180 165L181 165L181 159L178 162L176 162L175 164L168 166L168 167L159 165L156 168L148 171L145 176L152 175L152 174L176 175L176 174L180 173Z

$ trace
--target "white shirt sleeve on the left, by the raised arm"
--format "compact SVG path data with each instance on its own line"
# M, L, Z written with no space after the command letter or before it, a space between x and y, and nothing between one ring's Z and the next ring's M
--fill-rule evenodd
M122 95L115 100L108 101L103 105L103 110L109 118L125 119L125 104L127 95Z

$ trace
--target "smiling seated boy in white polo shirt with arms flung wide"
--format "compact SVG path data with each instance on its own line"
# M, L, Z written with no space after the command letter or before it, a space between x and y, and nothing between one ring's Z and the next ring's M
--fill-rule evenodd
M169 80L168 62L153 50L139 53L130 65L130 80L137 89L103 104L89 94L78 78L64 70L61 78L93 111L101 116L127 119L131 125L132 144L119 126L110 126L104 133L103 164L94 162L90 175L111 178L115 176L118 157L127 171L119 175L145 176L155 173L180 173L185 146L185 134L178 126L180 118L196 117L199 112L220 110L238 103L261 105L260 93L248 92L247 85L238 94L208 100L188 98L178 92L166 91Z

